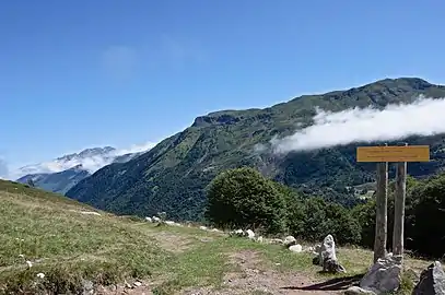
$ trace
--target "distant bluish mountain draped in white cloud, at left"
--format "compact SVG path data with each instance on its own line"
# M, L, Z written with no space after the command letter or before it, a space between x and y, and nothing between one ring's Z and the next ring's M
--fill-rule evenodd
M93 148L58 157L51 162L28 165L20 172L31 173L16 181L32 182L42 189L65 194L70 188L110 163L125 163L143 152L120 155L115 148ZM34 173L33 173L34 172ZM35 173L37 172L37 173Z

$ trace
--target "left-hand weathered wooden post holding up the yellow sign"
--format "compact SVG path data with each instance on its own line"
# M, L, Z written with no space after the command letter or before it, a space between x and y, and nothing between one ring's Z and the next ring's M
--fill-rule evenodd
M388 163L377 163L377 190L375 214L374 262L386 255L386 236L388 231Z

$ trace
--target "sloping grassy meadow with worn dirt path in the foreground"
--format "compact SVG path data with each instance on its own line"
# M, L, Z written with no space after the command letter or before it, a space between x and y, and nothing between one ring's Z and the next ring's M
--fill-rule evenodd
M99 294L338 294L372 263L371 251L340 247L348 273L325 275L308 252L195 226L156 226L3 180L0 228L3 294L79 294L91 284ZM428 264L406 261L415 272Z

